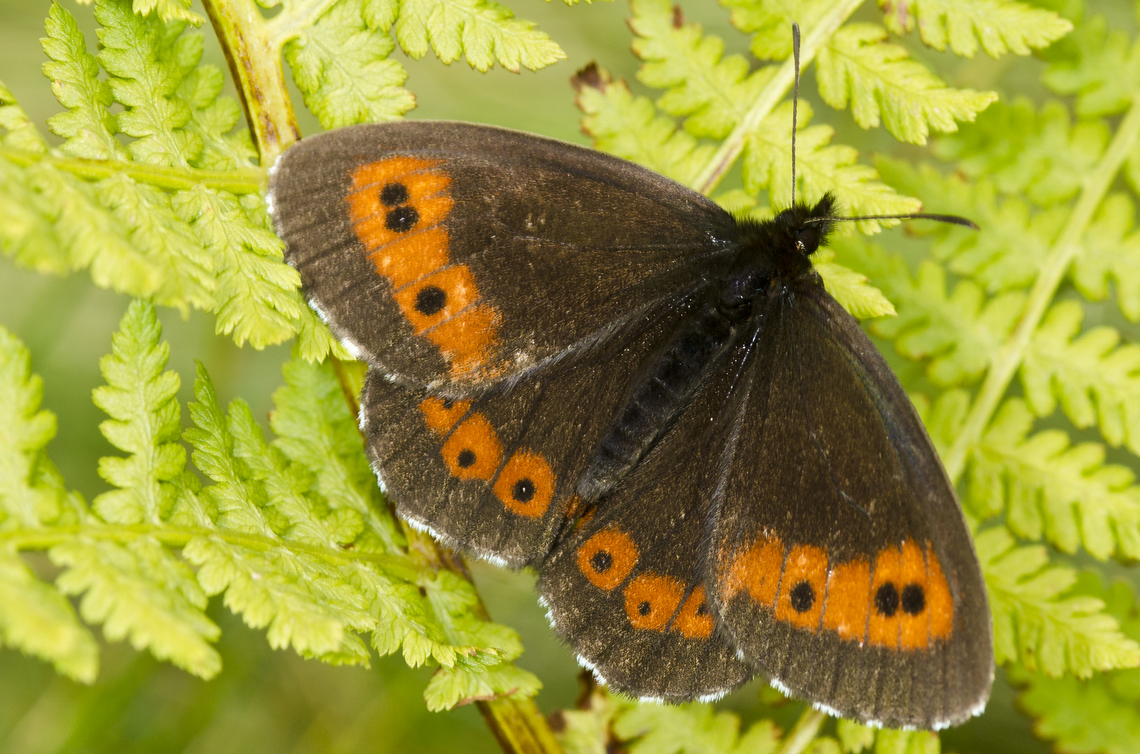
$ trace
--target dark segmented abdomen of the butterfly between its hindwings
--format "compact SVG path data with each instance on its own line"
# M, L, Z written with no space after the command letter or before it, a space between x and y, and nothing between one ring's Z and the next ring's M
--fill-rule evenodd
M595 500L644 458L740 331L738 312L706 304L681 327L635 380L629 400L602 435L578 494Z

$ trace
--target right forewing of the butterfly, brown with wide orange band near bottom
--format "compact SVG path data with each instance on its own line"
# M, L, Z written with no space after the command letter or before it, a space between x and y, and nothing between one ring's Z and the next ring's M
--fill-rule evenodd
M797 696L890 727L961 722L992 678L985 584L906 394L822 289L765 304L719 418L709 591ZM759 355L763 354L763 359Z

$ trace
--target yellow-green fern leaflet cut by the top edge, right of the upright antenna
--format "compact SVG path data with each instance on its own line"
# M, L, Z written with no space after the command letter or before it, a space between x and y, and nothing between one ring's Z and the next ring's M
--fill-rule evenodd
M905 34L917 25L922 42L936 50L946 46L972 58L982 49L990 57L1005 52L1028 55L1073 31L1073 24L1051 10L1009 0L879 0L887 28Z

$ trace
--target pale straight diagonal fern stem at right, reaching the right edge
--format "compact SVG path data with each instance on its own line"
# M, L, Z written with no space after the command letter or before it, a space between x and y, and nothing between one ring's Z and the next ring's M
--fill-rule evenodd
M966 470L966 457L970 449L980 441L982 433L988 426L991 417L997 410L997 404L1013 379L1013 375L1021 366L1025 351L1045 315L1045 310L1049 309L1049 304L1057 294L1057 288L1068 272L1073 259L1080 253L1081 237L1092 221L1093 213L1101 199L1105 198L1105 194L1108 192L1108 187L1112 186L1138 137L1140 137L1140 95L1133 97L1132 107L1121 121L1112 144L1108 145L1108 149L1100 158L1100 163L1085 178L1081 197L1041 265L1041 272L1029 292L1021 319L990 366L982 390L978 391L978 398L962 425L962 431L954 439L954 444L951 445L950 452L946 454L946 472L955 484Z

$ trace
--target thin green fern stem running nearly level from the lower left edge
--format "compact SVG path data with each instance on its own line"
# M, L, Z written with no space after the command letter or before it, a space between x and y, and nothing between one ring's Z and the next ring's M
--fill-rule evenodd
M344 564L364 560L375 563L385 573L408 583L416 583L421 569L413 566L407 558L396 557L386 552L364 552L357 550L333 550L317 544L306 544L294 540L276 540L256 534L245 534L219 528L198 528L192 526L169 526L154 524L79 524L74 526L44 526L42 528L14 528L0 532L0 546L8 544L17 550L47 550L56 544L68 542L75 538L108 540L113 542L130 542L139 536L153 536L166 547L186 547L196 536L220 539L229 544L246 550L266 552L274 549L303 551L316 555L329 563Z

